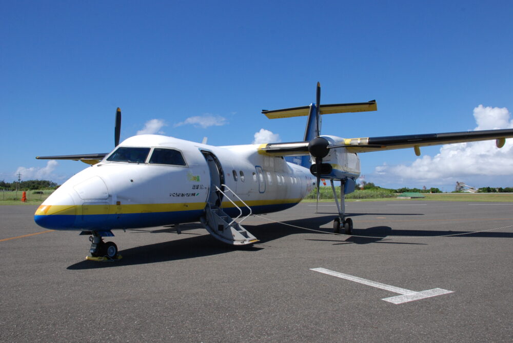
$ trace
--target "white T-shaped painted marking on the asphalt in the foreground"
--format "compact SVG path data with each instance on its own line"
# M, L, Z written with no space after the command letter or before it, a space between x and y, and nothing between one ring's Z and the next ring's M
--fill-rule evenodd
M430 298L430 297L437 296L437 295L453 293L453 291L449 291L449 290L442 289L442 288L433 288L433 289L428 289L425 291L416 292L416 291L411 291L411 290L405 289L405 288L385 285L385 284L378 283L378 282L372 281L372 280L367 280L367 279L364 279L364 278L361 278L358 276L352 276L349 274L335 272L335 271L325 269L325 268L310 268L310 270L313 270L313 271L319 272L319 273L323 273L323 274L327 274L327 275L331 275L331 276L340 277L340 278L354 281L356 283L364 284L367 286L384 289L389 292L399 293L401 295L396 295L396 296L391 296L388 298L381 299L381 300L385 300L385 301L391 302L392 304L396 304L396 305L403 304L404 302Z

